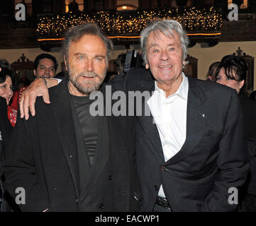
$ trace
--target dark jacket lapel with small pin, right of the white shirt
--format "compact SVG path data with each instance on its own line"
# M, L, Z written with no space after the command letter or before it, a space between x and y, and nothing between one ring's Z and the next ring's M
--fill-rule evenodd
M187 136L181 150L170 158L165 165L179 162L189 155L204 135L206 115L204 114L204 91L196 84L194 78L189 79L189 95L187 101Z

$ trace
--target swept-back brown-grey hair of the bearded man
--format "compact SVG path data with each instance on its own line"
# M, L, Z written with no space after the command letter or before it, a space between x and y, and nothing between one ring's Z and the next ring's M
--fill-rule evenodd
M101 38L106 46L106 61L108 61L113 49L113 43L103 34L101 28L94 23L82 23L67 30L65 40L62 42L62 55L66 61L68 61L69 57L70 43L79 41L84 35L96 35Z

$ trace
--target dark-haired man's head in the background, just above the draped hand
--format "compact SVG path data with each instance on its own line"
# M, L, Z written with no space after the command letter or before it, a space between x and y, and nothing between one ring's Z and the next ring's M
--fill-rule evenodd
M57 71L57 60L50 54L39 54L34 61L35 77L53 78Z

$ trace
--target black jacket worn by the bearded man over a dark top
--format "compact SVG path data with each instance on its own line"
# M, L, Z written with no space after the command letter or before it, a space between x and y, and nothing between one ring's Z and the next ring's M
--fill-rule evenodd
M79 194L79 161L67 80L50 89L50 105L40 98L35 117L18 118L6 154L4 187L16 197L26 191L24 211L136 211L140 194L135 174L135 144L130 119L108 117L109 151L99 148L95 164ZM100 143L100 141L98 141ZM98 145L98 144L97 144ZM98 150L97 150L98 151ZM81 208L81 202L83 208Z

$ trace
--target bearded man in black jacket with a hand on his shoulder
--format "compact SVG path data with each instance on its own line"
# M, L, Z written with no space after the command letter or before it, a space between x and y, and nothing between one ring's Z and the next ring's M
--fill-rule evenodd
M89 94L104 81L111 49L94 24L67 31L62 52L68 78L50 89L51 105L41 99L35 117L18 119L6 154L4 187L13 198L16 188L25 189L21 210L140 208L133 119L92 117L89 111Z

